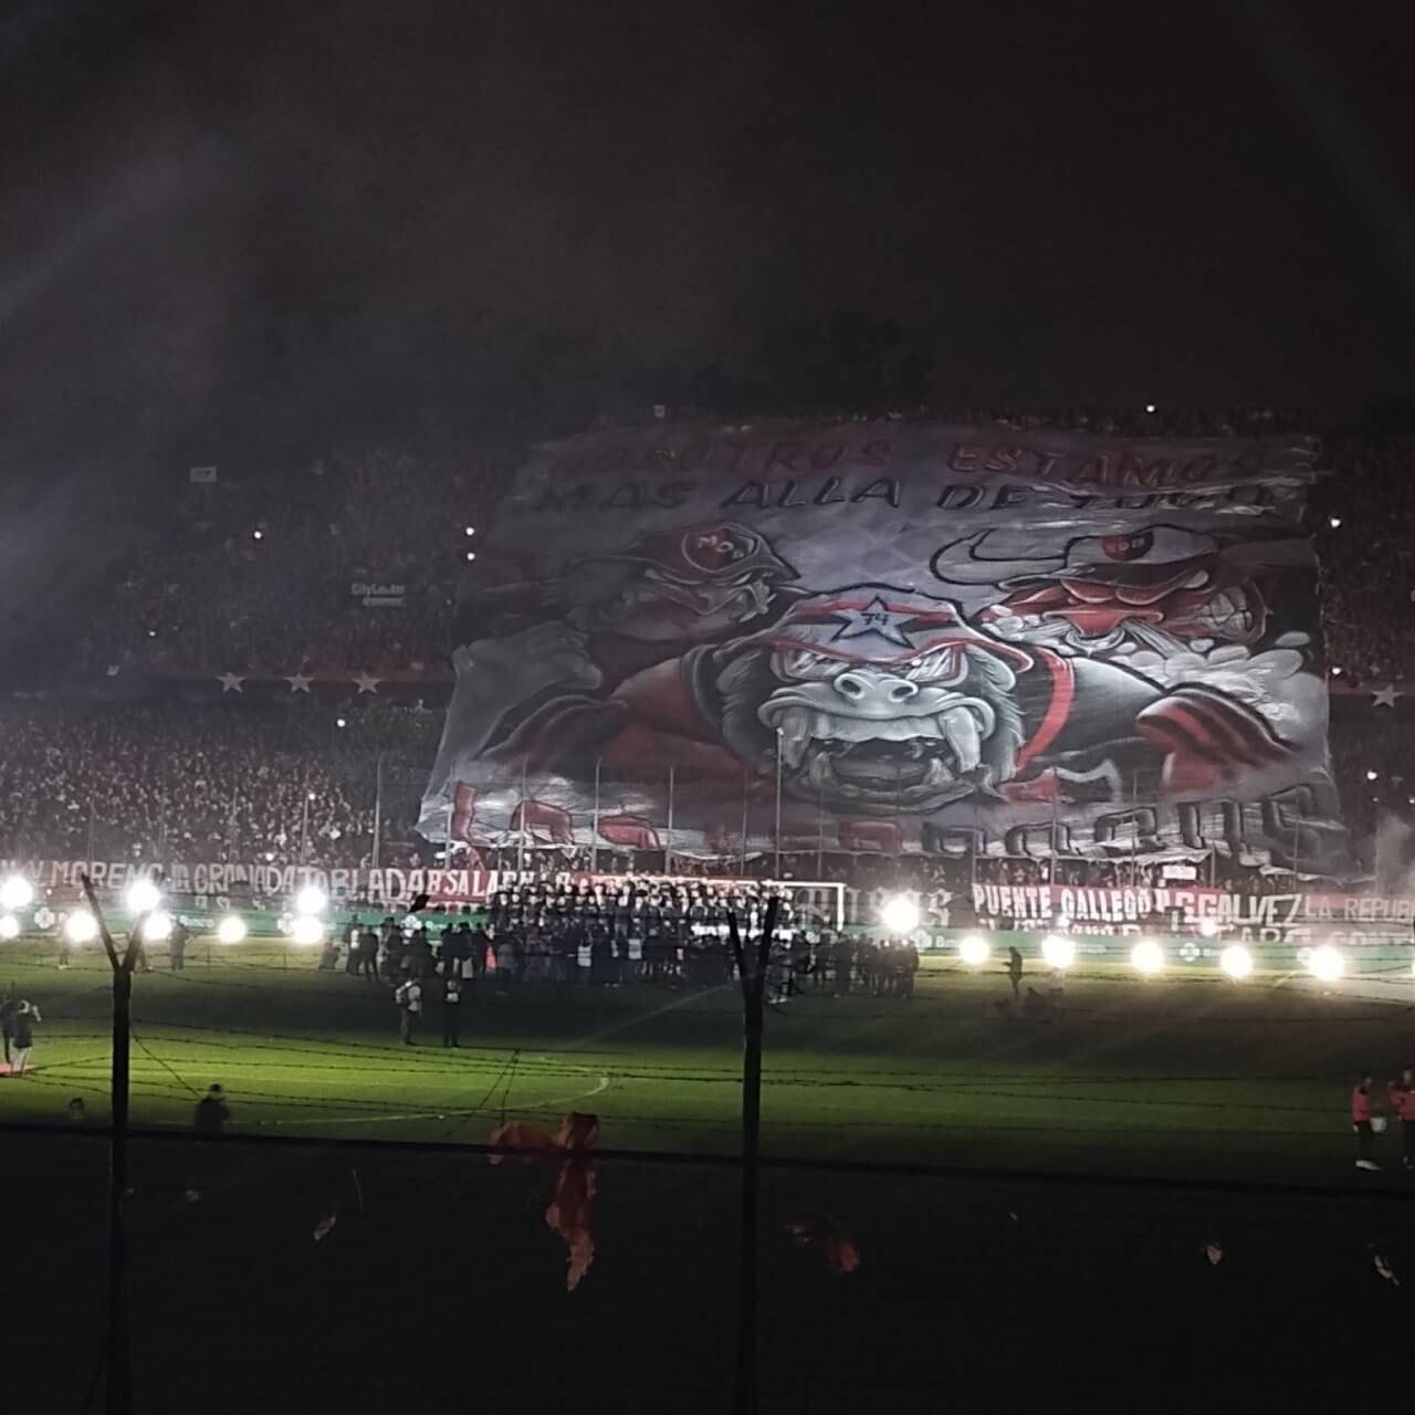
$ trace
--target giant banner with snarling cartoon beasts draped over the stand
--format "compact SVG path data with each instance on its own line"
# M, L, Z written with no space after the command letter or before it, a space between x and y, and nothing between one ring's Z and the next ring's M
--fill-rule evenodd
M1313 464L904 422L541 447L463 597L420 828L1340 869Z

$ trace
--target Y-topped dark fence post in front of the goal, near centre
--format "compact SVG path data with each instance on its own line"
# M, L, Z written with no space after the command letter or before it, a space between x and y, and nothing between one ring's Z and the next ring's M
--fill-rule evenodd
M761 1043L767 968L777 927L777 900L767 903L756 949L727 916L727 934L741 979L741 1237L737 1265L737 1382L734 1415L757 1409L757 1190L761 1172Z

